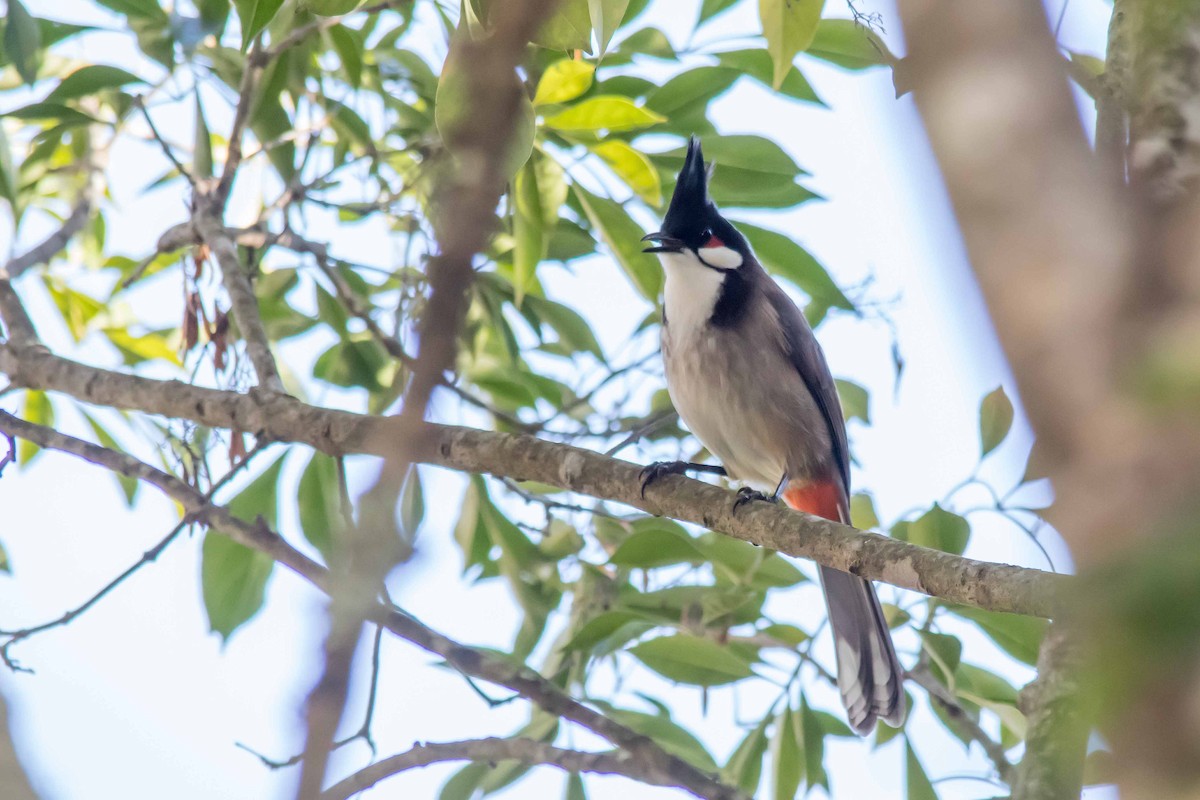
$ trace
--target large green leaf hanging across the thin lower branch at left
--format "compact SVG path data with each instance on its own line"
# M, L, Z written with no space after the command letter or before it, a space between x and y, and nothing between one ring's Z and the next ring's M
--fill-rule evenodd
M283 458L276 458L229 503L229 512L246 522L262 517L269 528L276 528L282 469ZM226 534L210 530L204 536L200 561L204 609L209 628L220 633L222 640L228 642L263 607L274 567L269 555L239 545Z

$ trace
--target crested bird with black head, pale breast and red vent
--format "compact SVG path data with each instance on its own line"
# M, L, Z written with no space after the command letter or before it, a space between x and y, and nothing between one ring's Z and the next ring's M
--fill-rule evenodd
M709 199L700 140L688 155L661 229L647 234L665 273L661 349L679 417L720 462L656 462L665 474L725 474L743 487L734 510L781 498L850 524L850 452L838 390L804 314L767 273L746 237ZM774 488L766 494L764 491ZM859 735L876 720L904 724L904 669L870 582L820 567L838 688Z

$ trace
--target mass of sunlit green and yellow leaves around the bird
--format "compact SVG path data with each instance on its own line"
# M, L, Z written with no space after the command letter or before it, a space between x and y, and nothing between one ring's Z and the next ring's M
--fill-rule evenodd
M739 1L745 2L704 0L696 29L712 32L714 19ZM73 43L89 35L89 26L52 19L48 7L47 18L34 17L19 0L8 0L0 54L6 109L0 197L14 224L19 229L35 212L73 206L95 180L103 182L107 155L118 143L150 136L140 109L150 119L178 115L180 97L193 138L176 149L178 164L163 161L152 188L182 198L188 179L220 174L230 144L224 138L228 98L240 90L256 48L265 48L270 59L248 108L257 144L247 149L244 167L263 166L270 178L253 198L262 211L247 230L302 234L302 212L323 210L336 215L340 235L353 236L360 224L385 225L398 255L359 264L325 259L306 247L288 253L287 241L268 237L265 246L244 243L240 257L254 275L289 391L337 391L372 413L390 409L409 377L406 348L427 297L438 179L455 157L455 130L479 124L464 106L461 66L445 62L448 42L486 36L503 4L470 0L460 16L425 0L368 8L355 0L197 0L169 13L157 0L98 2L128 31L137 48L133 61L83 61ZM740 221L755 210L794 209L817 194L787 150L752 133L718 130L710 110L739 80L822 104L804 74L812 59L866 70L889 68L895 56L877 32L822 17L836 10L823 11L820 0L760 0L761 40L676 52L662 31L640 24L647 5L565 0L514 76L524 102L508 164L510 190L469 289L452 379L469 420L599 450L638 441L643 452L695 451L670 415L665 393L638 392L628 380L653 363L648 354L662 282L638 240L664 211L683 137L691 133L704 137L706 152L718 163L714 199L739 219L767 269L804 296L809 319L816 325L832 313L863 317L860 299L791 236ZM431 49L436 26L443 38ZM271 49L280 42L288 47ZM672 74L660 80L664 65ZM175 148L174 140L163 144ZM203 246L126 252L122 242L106 239L104 221L113 213L119 210L102 205L67 258L24 278L52 297L60 315L55 324L89 353L134 372L244 387L240 333L227 317L212 254ZM337 243L331 242L335 253ZM598 253L616 264L641 299L644 323L635 335L634 359L606 351L581 313L588 309L554 300L544 284L556 265L593 269L586 259ZM131 312L143 287L162 284L178 287L184 297L179 324L166 329ZM656 378L650 383L660 385ZM839 389L851 431L870 425L868 391L850 381ZM43 425L72 405L38 391L20 398L23 416ZM984 399L980 458L1002 445L1013 416L1002 390ZM107 446L148 429L113 413L89 413L86 420L90 434ZM241 432L226 435L168 421L150 435L167 444L163 465L202 487L215 480L226 457L232 463L246 457ZM35 455L24 449L20 461L28 464ZM298 483L286 479L286 465L301 473ZM295 506L299 530L286 533L302 536L329 561L338 552L344 515L341 480L332 459L295 447L245 482L232 509L247 521L274 522L277 505ZM982 481L972 475L965 486L972 483ZM132 501L134 488L122 486ZM1010 497L996 497L986 510L1036 524ZM530 519L516 498L545 513ZM838 778L824 771L823 742L848 729L840 709L810 704L809 688L823 680L812 666L818 631L767 612L769 597L808 582L805 572L719 534L574 503L547 487L478 476L466 489L454 536L466 579L503 582L522 610L510 655L748 792L782 799L800 787L828 790ZM955 511L954 503L954 493L926 500L888 528L900 539L962 553L971 546L973 512ZM409 475L401 515L407 530L420 527L419 473ZM854 519L880 527L869 494L856 495ZM272 564L220 531L206 537L203 596L212 630L229 637L259 610ZM19 566L13 565L18 572ZM8 569L2 555L0 569ZM928 669L964 714L1001 730L1006 750L1019 746L1024 720L1016 690L971 660L992 658L982 634L1013 658L1033 663L1044 626L910 595L902 603L888 613L898 636L916 632L916 669ZM778 698L745 721L740 745L719 757L654 699L588 693L596 674L635 669L701 693L762 684ZM553 741L563 735L556 722L534 714L521 733ZM906 732L904 745L908 796L936 796L910 741L919 741L922 730L916 729ZM892 735L881 729L877 741ZM521 774L469 765L445 786L443 798L490 794ZM583 796L584 784L572 777L570 796Z

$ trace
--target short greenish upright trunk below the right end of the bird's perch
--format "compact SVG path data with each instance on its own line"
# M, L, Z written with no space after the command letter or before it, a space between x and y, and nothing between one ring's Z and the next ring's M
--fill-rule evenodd
M1090 729L1080 691L1082 668L1079 644L1062 624L1051 624L1038 654L1037 680L1021 691L1028 734L1013 800L1079 796Z

